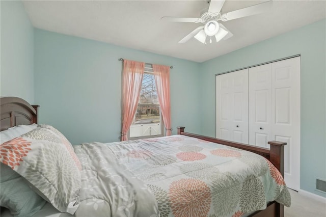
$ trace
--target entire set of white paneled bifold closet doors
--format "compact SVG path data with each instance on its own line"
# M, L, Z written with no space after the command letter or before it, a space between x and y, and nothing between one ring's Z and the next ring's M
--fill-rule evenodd
M216 138L264 148L286 142L284 178L300 189L300 57L217 75Z

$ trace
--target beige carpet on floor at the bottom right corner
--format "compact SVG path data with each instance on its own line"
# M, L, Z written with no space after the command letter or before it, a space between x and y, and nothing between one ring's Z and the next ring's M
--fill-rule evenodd
M291 207L284 207L284 217L326 217L325 200L315 200L289 189Z

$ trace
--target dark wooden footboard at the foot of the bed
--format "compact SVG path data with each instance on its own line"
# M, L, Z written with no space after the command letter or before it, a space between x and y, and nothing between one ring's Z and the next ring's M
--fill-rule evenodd
M212 137L205 137L204 135L198 135L194 133L184 132L185 127L177 127L178 134L187 135L188 137L194 137L201 140L206 140L213 143L218 143L222 145L227 145L235 148L239 148L246 151L251 151L256 154L262 155L266 159L268 159L284 176L284 146L286 143L278 142L278 141L270 141L268 144L270 145L270 149L261 148L257 146L252 146L243 143L236 143L227 140L216 139ZM267 204L267 208L264 210L257 211L250 216L255 217L283 217L284 216L284 206L275 201L269 202Z

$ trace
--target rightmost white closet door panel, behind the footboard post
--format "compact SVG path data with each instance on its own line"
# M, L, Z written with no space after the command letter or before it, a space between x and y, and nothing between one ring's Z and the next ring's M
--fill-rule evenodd
M300 57L272 63L271 131L273 140L286 142L284 177L288 187L300 189Z

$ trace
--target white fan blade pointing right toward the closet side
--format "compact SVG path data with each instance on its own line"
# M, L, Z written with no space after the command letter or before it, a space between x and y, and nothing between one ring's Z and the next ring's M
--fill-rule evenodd
M231 11L229 13L223 14L222 17L226 20L224 20L224 19L222 19L222 20L227 21L227 20L237 19L240 17L246 17L246 16L255 15L255 14L260 14L260 13L263 13L263 12L267 11L268 9L270 9L272 4L273 4L273 1L268 1L268 2L258 4L258 5L250 6L248 8L242 8L242 9L239 9L236 11Z

